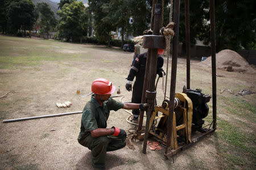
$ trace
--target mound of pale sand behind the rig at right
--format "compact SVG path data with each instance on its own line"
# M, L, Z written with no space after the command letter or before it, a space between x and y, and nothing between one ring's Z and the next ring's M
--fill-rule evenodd
M212 66L212 57L208 57L204 61L199 63L207 67ZM228 66L232 66L233 70L236 72L250 72L255 71L245 58L240 56L237 52L233 50L225 49L221 50L216 54L216 68L226 70Z

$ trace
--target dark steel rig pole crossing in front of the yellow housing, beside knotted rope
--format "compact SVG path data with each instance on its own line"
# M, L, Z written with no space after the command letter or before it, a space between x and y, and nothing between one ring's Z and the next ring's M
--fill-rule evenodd
M176 73L177 73L177 49L179 45L179 23L180 23L180 0L176 0L174 4L174 40L172 46L172 72L171 72L171 87L170 87L170 103L169 103L169 116L168 116L168 128L167 128L167 148L171 146L171 136L174 121L174 98L176 87ZM167 151L166 148L166 151Z

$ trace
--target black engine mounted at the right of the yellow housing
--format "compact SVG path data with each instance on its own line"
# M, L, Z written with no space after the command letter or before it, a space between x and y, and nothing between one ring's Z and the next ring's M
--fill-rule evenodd
M207 117L209 107L207 103L210 101L210 95L204 95L201 90L187 90L187 96L192 100L193 103L193 119L192 119L192 130L202 129L204 124L203 118Z

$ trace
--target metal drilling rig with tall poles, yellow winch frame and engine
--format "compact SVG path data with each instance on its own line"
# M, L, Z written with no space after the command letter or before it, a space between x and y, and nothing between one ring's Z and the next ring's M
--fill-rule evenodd
M189 40L189 0L185 1L185 32L186 32L186 53L187 53L187 86L183 91L175 93L176 71L177 71L177 48L179 44L179 18L180 18L180 0L174 3L174 32L172 39L172 65L171 65L171 83L170 100L163 100L162 105L156 105L156 63L158 49L165 49L167 39L159 35L160 19L163 12L158 1L153 1L151 14L152 35L143 36L143 48L147 48L146 72L144 76L142 103L147 103L146 128L142 131L144 112L139 116L138 129L135 137L144 139L143 153L146 154L147 139L154 136L165 146L164 156L170 158L183 148L197 142L205 135L216 130L216 49L215 49L215 16L214 0L209 0L210 12L210 36L212 53L212 96L205 95L200 89L190 89L190 40ZM163 3L163 1L162 1ZM154 18L154 19L152 19ZM212 98L213 117L210 126L205 128L203 118L208 116L209 103ZM162 113L158 116L158 113ZM158 125L154 124L158 120Z

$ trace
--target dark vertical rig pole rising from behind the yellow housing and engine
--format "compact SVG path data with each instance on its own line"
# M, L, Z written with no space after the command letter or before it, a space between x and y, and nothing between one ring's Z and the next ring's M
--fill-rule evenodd
M187 53L187 89L190 89L190 29L189 29L189 0L185 0L186 23L186 53Z

